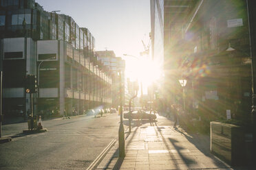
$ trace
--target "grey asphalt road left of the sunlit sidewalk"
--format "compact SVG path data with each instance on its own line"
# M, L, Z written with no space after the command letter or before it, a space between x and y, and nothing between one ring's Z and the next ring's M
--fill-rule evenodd
M3 125L0 169L86 169L113 140L118 138L120 117L72 117L43 121L47 132L21 134L27 123Z

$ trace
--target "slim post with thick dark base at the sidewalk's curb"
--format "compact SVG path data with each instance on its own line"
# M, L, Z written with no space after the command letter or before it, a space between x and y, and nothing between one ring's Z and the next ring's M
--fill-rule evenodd
M120 89L120 125L118 130L119 157L125 157L125 128L122 124L122 71L119 74L119 89Z

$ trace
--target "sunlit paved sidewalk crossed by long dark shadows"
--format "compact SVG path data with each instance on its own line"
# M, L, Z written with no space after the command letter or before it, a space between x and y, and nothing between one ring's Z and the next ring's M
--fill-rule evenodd
M145 123L132 129L125 145L123 160L117 143L97 169L232 169L211 154L208 135L187 134L182 128Z

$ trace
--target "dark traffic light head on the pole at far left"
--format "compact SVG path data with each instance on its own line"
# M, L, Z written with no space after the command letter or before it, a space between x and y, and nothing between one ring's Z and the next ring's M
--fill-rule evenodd
M37 93L37 79L35 75L26 75L25 76L25 93Z

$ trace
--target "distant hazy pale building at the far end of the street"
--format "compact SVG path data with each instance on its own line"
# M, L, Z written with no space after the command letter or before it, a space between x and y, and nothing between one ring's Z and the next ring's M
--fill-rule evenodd
M114 51L96 51L98 60L111 71L111 97L113 108L118 108L120 104L120 80L118 74L121 73L122 81L122 104L125 104L125 60L116 57Z

